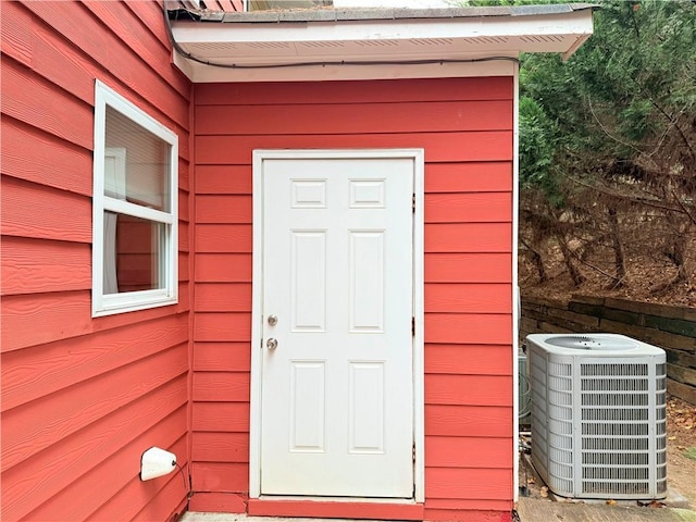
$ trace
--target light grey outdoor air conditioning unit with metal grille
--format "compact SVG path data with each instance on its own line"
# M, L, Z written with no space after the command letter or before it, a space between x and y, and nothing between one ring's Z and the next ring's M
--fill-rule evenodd
M532 463L563 497L667 496L664 350L616 334L526 337Z

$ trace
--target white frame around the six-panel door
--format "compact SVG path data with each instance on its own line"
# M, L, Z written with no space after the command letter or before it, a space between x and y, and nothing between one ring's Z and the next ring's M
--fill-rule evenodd
M249 419L249 498L261 498L261 373L262 373L262 321L263 306L263 162L274 159L335 159L350 160L362 158L412 159L413 160L413 498L394 499L394 502L423 502L425 500L425 461L424 461L424 247L423 247L423 206L424 206L424 151L423 149L283 149L253 150L252 159L252 298L251 298L251 380L250 380L250 419ZM266 497L273 498L273 497ZM287 499L288 497L283 497ZM294 497L307 500L331 500L330 497ZM343 499L344 501L346 499ZM359 498L356 501L384 502L384 498Z

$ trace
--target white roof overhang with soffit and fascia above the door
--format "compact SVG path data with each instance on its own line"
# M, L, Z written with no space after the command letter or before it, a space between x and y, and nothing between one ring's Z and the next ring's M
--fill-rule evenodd
M563 7L523 15L426 10L422 17L338 11L349 20L327 20L334 10L220 13L216 22L208 13L207 21L172 21L176 45L199 60L174 51L174 63L195 83L512 75L520 52L567 58L589 37L592 7Z

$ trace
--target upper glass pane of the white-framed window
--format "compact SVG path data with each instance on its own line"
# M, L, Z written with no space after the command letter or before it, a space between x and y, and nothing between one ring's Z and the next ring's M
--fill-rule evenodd
M170 144L109 105L105 140L104 195L169 212Z

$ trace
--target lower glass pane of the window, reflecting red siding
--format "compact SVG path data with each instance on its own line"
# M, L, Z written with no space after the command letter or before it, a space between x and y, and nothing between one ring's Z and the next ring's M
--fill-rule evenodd
M104 294L163 288L165 226L104 212Z

